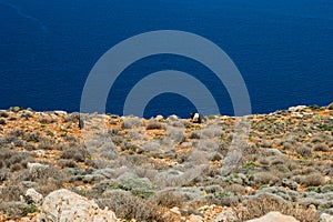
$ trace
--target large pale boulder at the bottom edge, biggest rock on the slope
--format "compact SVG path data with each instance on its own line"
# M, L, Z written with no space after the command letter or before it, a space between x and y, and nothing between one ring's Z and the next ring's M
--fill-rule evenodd
M69 190L61 189L51 192L46 198L37 221L115 222L117 218L107 208L101 210L94 201L90 201Z

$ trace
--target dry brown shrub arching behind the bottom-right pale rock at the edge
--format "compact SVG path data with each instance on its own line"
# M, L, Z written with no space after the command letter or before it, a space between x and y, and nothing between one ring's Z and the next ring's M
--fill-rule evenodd
M284 201L282 198L271 194L262 194L258 198L249 199L243 202L242 209L238 210L241 221L246 221L263 216L271 211L279 211L282 214L294 216L300 222L317 222L320 221L316 211L304 206L295 205Z

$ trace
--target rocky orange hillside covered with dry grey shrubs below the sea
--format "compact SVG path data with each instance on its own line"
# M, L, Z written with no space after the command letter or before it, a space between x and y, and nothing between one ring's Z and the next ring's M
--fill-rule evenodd
M333 104L204 123L0 111L0 221L332 215Z

